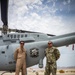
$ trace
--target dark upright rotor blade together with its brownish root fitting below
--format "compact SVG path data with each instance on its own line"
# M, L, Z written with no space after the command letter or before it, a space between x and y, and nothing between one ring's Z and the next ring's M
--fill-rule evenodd
M2 29L3 34L7 34L8 29L8 1L9 0L0 0L1 20L3 22L3 29Z

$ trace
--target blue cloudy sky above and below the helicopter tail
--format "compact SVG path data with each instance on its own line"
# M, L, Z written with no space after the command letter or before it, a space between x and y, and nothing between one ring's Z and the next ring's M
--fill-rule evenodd
M75 32L74 24L75 0L9 0L9 28L62 35ZM58 66L75 66L71 46L59 48Z

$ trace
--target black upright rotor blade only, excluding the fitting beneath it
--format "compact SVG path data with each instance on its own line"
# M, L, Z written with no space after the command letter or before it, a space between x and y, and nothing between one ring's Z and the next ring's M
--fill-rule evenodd
M9 0L0 0L1 4L1 20L3 25L8 26L8 1Z

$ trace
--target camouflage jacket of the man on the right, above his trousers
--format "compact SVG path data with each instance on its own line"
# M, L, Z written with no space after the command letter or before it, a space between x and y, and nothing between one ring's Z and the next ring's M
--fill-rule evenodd
M60 57L60 52L56 47L46 48L45 49L46 60L49 63L54 63Z

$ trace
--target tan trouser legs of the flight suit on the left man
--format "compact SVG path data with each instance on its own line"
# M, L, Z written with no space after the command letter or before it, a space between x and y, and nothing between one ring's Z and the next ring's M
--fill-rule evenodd
M22 75L26 75L26 62L23 59L17 59L15 75L19 75L20 71Z

